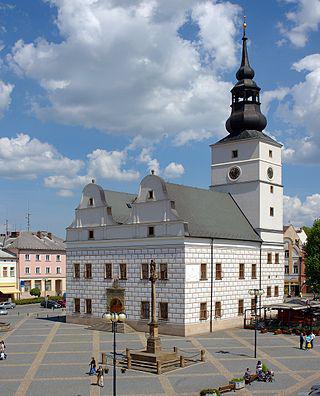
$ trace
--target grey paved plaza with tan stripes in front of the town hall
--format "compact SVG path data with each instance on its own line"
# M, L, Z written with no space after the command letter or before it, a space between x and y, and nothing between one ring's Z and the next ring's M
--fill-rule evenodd
M20 315L18 315L18 312ZM17 307L0 320L14 325L13 331L0 335L7 345L8 359L0 361L0 395L3 396L98 396L110 395L112 370L105 375L105 387L94 385L89 377L91 356L100 360L101 352L111 352L112 334L88 330L85 326L63 323L39 307ZM38 318L37 318L38 313ZM29 315L28 315L29 314ZM163 336L164 348L174 345L190 353L206 350L206 362L160 376L118 370L121 395L199 395L207 387L219 387L232 377L254 370L253 331L234 329L197 337ZM138 349L145 344L144 333L117 335L118 352L126 347ZM317 341L317 340L316 340ZM258 357L275 371L273 383L254 382L238 395L306 395L320 381L320 349L298 349L297 336L259 334ZM99 358L98 358L99 357ZM233 394L233 393L230 393Z

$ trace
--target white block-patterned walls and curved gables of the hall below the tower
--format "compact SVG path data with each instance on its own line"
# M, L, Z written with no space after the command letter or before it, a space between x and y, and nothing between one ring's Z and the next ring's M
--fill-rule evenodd
M158 176L145 177L136 199L127 197L131 208L123 224L117 221L116 204L112 204L110 192L95 183L84 188L75 220L67 229L69 321L81 323L101 318L109 308L108 290L114 279L120 277L120 265L126 264L126 279L119 280L124 291L123 309L129 324L146 330L149 320L141 318L141 306L150 300L150 282L141 279L141 265L149 264L151 259L156 261L159 272L160 265L167 264L167 279L157 281L158 306L168 303L168 317L159 321L162 333L188 335L208 332L211 327L215 330L241 325L239 300L243 300L243 311L249 310L248 290L253 287L265 290L262 304L282 301L282 246L262 245L260 265L258 238L246 241L191 237L188 223L180 217L179 206L175 207L167 188L168 184ZM150 227L152 235L148 235ZM268 254L272 262L267 264ZM275 263L276 254L279 264ZM92 268L89 278L84 277L86 264ZM111 279L105 277L106 264L112 266ZM201 279L203 264L207 273ZM221 265L221 279L216 279L217 264ZM239 276L240 264L244 264L243 277ZM75 265L79 276L75 276ZM252 265L256 266L254 276ZM76 301L80 303L79 312L75 312ZM216 315L219 302L221 317ZM203 303L207 314L200 318Z

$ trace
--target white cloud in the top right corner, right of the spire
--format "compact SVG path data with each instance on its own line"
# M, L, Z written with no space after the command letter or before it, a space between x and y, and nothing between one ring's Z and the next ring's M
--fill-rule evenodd
M285 0L293 5L286 14L286 24L280 23L283 36L296 47L304 47L310 32L316 32L320 24L320 0ZM283 44L283 40L279 43Z

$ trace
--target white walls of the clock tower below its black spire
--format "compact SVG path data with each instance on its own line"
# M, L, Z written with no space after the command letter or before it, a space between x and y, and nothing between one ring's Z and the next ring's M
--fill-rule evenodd
M211 188L232 194L264 243L283 244L281 146L260 139L239 139L214 144L211 149ZM235 152L237 157L233 158ZM229 176L233 167L240 171L235 180Z

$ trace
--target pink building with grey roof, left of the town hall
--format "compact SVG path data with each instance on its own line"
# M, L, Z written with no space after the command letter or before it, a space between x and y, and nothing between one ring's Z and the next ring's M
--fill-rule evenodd
M38 288L42 296L66 291L66 248L51 232L11 232L5 248L17 256L17 280L21 298Z

